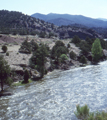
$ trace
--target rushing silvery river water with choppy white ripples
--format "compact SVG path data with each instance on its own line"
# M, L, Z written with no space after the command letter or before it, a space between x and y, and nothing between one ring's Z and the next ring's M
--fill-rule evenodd
M107 61L96 66L54 71L41 81L9 88L0 98L0 120L76 120L76 105L107 108Z

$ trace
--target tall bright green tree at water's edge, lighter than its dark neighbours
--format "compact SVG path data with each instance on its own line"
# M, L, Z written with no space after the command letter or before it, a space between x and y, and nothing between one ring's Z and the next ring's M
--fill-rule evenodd
M91 52L92 52L93 61L98 62L102 57L102 47L100 44L100 40L98 38L92 44Z

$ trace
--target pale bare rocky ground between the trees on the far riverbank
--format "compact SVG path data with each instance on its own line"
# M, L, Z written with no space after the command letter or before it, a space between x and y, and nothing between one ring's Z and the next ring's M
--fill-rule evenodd
M35 38L33 36L33 38ZM28 38L28 41L30 42L32 40L32 37ZM55 39L41 39L41 38L35 38L34 41L36 43L38 43L38 45L40 43L44 43L47 44L49 46L49 49L51 50L53 48L53 46L55 45L56 41ZM70 47L68 47L69 53L71 51L73 51L76 54L76 59L71 59L70 58L70 54L67 54L68 59L64 60L64 62L61 63L55 63L55 59L52 59L47 57L46 58L46 63L45 63L45 70L47 70L48 72L52 72L53 70L57 69L57 70L68 70L68 69L73 69L75 67L81 67L81 66L85 66L85 64L80 63L80 58L82 56L82 54L80 54L81 49L79 47L77 47L74 43L71 43L71 39L67 39L67 40L60 40L62 41L65 46L67 47L68 44L70 45ZM5 43L7 44L7 43ZM13 79L14 82L23 80L23 75L24 75L24 71L25 69L27 69L31 75L32 79L37 80L40 77L40 73L35 70L32 69L29 66L29 59L32 56L32 52L31 54L26 54L26 53L20 53L19 52L19 48L20 48L21 43L15 45L12 44L11 41L10 43L7 44L7 48L8 48L8 54L6 55L6 53L3 53L1 50L2 45L0 46L0 54L4 56L4 59L8 62L8 64L10 65L11 71L12 71L12 75L11 78ZM103 50L105 56L107 54L106 50ZM91 55L89 54L87 56L87 63L86 64L91 64L91 62L89 61L89 59L91 59ZM53 64L52 64L52 63Z

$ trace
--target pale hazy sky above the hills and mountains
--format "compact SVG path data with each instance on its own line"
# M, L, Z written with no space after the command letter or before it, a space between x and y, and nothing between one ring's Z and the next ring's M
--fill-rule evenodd
M60 13L107 18L107 0L0 0L0 10L34 13Z

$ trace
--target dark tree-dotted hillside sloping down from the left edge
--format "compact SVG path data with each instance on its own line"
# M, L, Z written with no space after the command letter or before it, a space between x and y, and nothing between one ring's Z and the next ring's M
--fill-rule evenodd
M40 34L41 31L52 32L54 28L57 28L57 26L20 12L0 11L0 33L3 34L35 35Z

